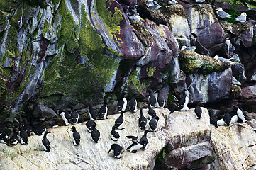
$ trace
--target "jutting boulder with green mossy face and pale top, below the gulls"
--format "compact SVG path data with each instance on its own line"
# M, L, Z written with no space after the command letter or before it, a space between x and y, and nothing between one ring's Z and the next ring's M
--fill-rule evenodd
M179 54L179 60L182 70L186 74L210 74L212 72L221 72L229 66L225 62L215 60L207 55L199 55L193 50L182 50Z

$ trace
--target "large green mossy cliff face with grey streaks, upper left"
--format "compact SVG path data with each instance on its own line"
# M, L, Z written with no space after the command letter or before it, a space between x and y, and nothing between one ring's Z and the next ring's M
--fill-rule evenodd
M128 48L116 1L2 1L0 8L1 109L20 109L35 96L53 106L62 96L81 102L113 91Z

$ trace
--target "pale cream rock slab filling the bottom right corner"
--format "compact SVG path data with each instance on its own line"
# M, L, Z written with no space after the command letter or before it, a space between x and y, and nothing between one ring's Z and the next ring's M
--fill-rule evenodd
M256 121L235 123L228 127L211 126L211 140L216 154L213 169L256 169Z

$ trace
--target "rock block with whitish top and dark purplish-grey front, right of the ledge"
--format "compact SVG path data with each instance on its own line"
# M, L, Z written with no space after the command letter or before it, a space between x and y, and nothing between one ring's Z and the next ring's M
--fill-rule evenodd
M186 168L201 158L211 157L211 128L208 111L203 108L201 119L190 112L174 112L167 119L169 141L166 156L162 159L165 168ZM202 161L202 160L201 160ZM212 162L209 159L207 164ZM205 164L203 165L205 166ZM194 167L190 167L194 168Z

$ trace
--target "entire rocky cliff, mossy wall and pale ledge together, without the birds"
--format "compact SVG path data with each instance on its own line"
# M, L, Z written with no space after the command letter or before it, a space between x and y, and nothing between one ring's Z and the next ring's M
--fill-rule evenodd
M231 18L220 18L220 7ZM26 120L51 132L49 153L43 136L0 143L0 169L255 170L255 54L255 0L0 0L0 137L10 139ZM114 159L107 152L118 99L134 96L146 108L148 90L165 100L155 109L157 132L148 133L145 151ZM184 90L191 109L179 112ZM89 106L98 111L104 101L108 119L96 120L96 144L85 123ZM245 123L210 126L209 118L233 117L238 106ZM80 146L62 126L62 109L79 114ZM139 115L125 113L123 148L126 135L143 135Z

